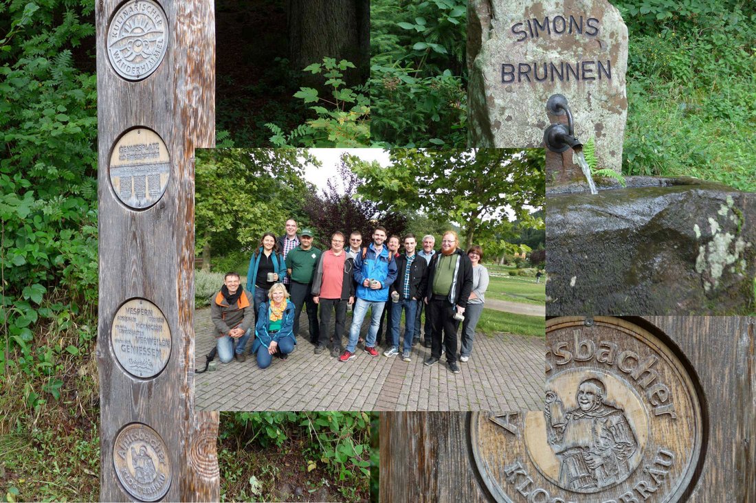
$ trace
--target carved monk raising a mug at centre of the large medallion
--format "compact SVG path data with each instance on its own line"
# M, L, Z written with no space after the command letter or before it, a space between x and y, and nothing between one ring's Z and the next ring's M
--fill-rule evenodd
M547 436L561 461L559 482L572 491L587 492L620 483L630 474L628 459L638 449L633 427L624 411L605 403L600 379L580 383L578 408L567 411L563 422L547 419ZM561 424L560 424L561 423Z

